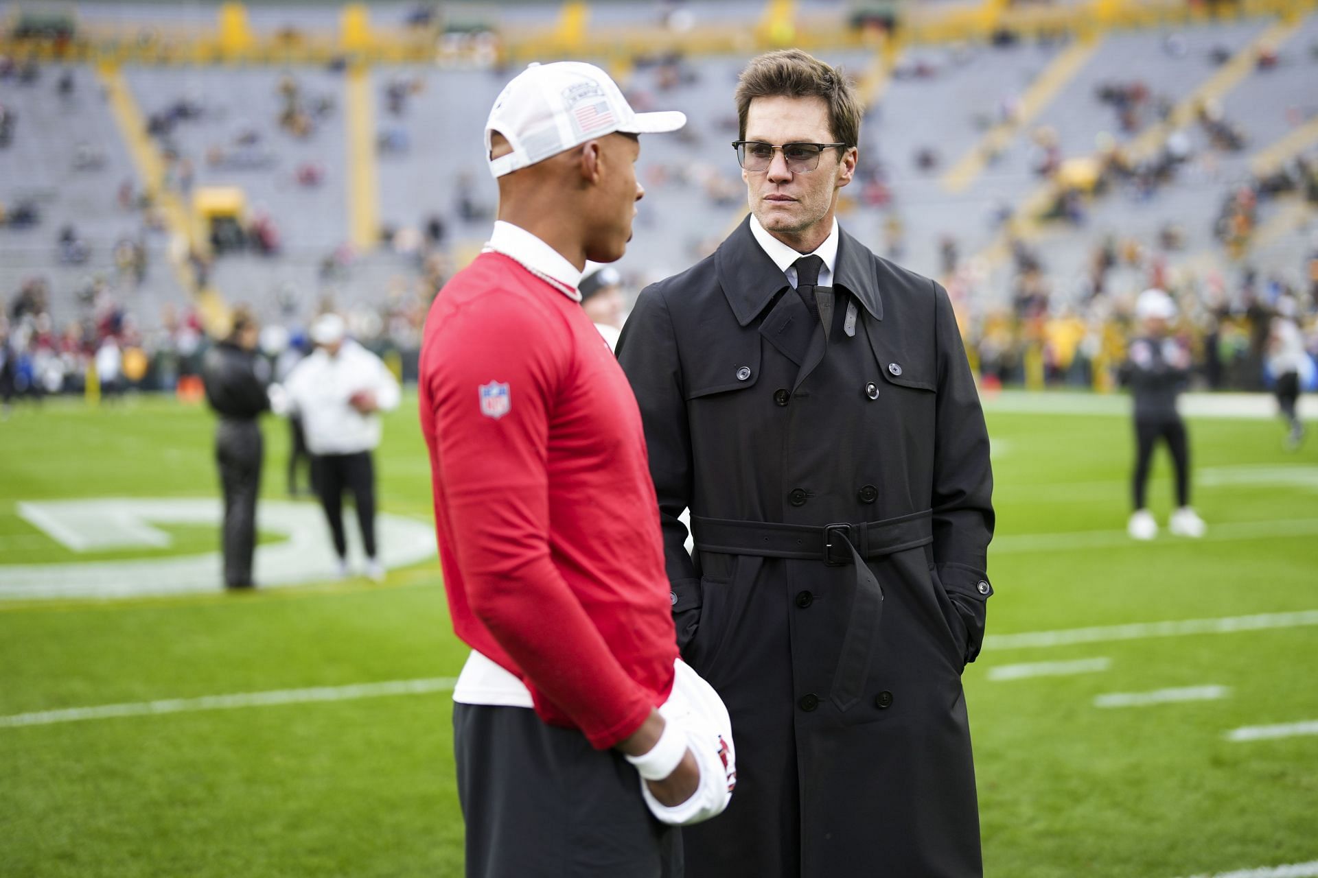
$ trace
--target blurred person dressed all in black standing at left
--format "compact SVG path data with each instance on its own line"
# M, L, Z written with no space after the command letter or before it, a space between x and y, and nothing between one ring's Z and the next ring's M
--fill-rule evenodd
M232 329L202 361L206 400L220 416L215 461L224 490L224 584L250 588L256 553L256 499L265 453L257 417L269 408L266 365L256 355L260 325L246 308L233 312Z

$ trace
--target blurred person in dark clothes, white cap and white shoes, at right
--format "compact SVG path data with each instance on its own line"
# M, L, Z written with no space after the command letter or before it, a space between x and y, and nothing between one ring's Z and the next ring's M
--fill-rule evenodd
M1145 505L1149 461L1159 440L1166 442L1176 466L1176 503L1168 529L1182 537L1202 537L1203 519L1190 507L1190 448L1176 398L1190 376L1190 351L1168 333L1176 303L1161 290L1145 290L1135 303L1143 334L1131 342L1122 382L1135 396L1135 512L1127 532L1135 540L1157 536L1157 521Z

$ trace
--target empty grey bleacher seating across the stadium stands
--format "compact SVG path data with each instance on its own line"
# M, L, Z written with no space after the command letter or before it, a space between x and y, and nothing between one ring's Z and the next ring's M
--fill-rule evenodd
M836 4L804 4L820 16L836 13ZM816 8L817 7L817 8ZM758 20L762 4L685 4L695 22ZM169 9L154 4L86 4L87 22L142 21L154 26L203 26L211 13L190 7ZM326 8L254 7L253 29L299 26L332 29L339 11ZM381 25L402 22L407 7L373 8ZM489 12L502 28L552 26L554 4L501 5ZM596 4L592 25L635 25L635 5ZM1153 101L1185 100L1207 80L1220 58L1255 39L1268 20L1247 18L1172 29L1114 32L1098 51L1061 87L1039 113L1006 143L963 192L952 194L942 179L961 157L978 149L985 130L1066 47L1065 42L1016 41L1004 45L915 46L898 62L895 76L865 120L862 170L880 168L891 191L891 207L865 205L862 187L846 192L844 222L853 234L883 253L899 217L903 232L902 262L923 274L938 275L940 246L956 241L962 258L986 251L998 232L995 212L1019 205L1040 180L1031 170L1031 132L1049 128L1064 157L1093 155L1101 136L1128 142L1155 121L1152 112L1135 132L1122 132L1116 112L1098 97L1106 83L1145 83ZM1137 199L1124 190L1108 192L1089 205L1079 229L1045 233L1045 269L1065 297L1083 274L1095 242L1120 233L1152 244L1169 222L1185 236L1182 254L1220 255L1211 220L1232 187L1246 182L1251 157L1277 142L1314 108L1311 82L1315 67L1309 46L1318 39L1318 14L1310 14L1280 47L1272 70L1249 72L1220 100L1223 117L1247 138L1240 151L1214 151L1211 162L1191 162L1176 180L1152 197ZM862 50L820 51L858 78L874 70L874 55ZM618 70L619 79L639 108L676 108L691 122L672 137L651 137L643 143L639 175L647 196L641 205L638 244L621 263L630 284L680 270L709 251L743 212L738 168L728 143L735 137L731 92L746 55L687 58L675 63L637 58ZM51 282L55 311L63 319L76 313L75 294L88 272L112 272L112 247L123 237L145 234L152 270L133 303L138 319L150 325L159 305L187 301L166 259L167 236L142 233L141 217L119 205L119 187L136 179L121 132L101 99L95 71L69 67L72 97L55 93L57 67L42 70L33 86L7 87L3 101L18 116L13 145L0 151L4 170L0 203L11 209L34 199L42 212L36 229L0 229L0 291L11 294L24 278L43 274ZM194 187L236 186L246 197L249 216L268 215L278 230L279 253L224 255L211 279L231 300L252 301L266 319L304 320L324 295L336 304L374 303L397 288L399 278L415 279L418 259L411 250L395 254L387 246L353 253L344 259L349 240L348 132L344 118L344 75L324 67L127 67L125 78L144 116L167 111L179 100L199 109L195 117L174 124L157 146L171 145L195 168ZM481 161L481 120L511 70L439 68L434 66L377 66L370 72L374 96L373 133L377 155L381 230L422 229L431 219L444 230L443 246L461 263L488 233L497 190ZM297 82L304 107L312 111L314 130L294 136L279 125L285 97L281 83ZM407 84L401 112L387 97L393 83ZM323 99L323 101L322 101ZM1207 137L1191 124L1191 149L1202 154ZM240 146L240 138L252 138ZM74 171L79 150L94 145L98 170ZM931 161L919 167L921 150ZM224 157L212 162L211 158ZM299 184L301 170L323 170L315 186ZM1264 204L1260 221L1275 211ZM72 224L90 246L90 258L78 266L59 265L55 236ZM1267 241L1269 263L1288 270L1305 255L1302 236ZM327 263L348 266L327 272ZM337 265L336 263L336 265ZM333 275L333 276L330 276ZM1135 280L1132 280L1135 283ZM978 305L1004 303L1011 271L1002 261L987 286L977 290Z

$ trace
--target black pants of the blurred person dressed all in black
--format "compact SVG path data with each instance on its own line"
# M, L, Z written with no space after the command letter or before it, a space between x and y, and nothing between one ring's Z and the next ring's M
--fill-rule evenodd
M221 420L215 430L215 462L224 491L224 584L252 584L256 554L256 498L261 488L261 428L254 420Z

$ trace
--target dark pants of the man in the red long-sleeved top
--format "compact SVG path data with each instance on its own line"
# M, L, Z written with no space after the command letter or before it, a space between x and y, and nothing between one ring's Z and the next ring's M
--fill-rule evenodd
M622 754L525 707L453 704L468 878L680 878Z

